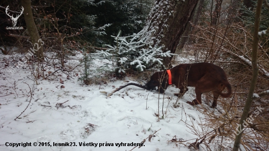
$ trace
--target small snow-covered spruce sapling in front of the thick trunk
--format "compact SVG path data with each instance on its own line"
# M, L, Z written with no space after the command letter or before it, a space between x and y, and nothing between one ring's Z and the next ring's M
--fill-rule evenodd
M143 41L138 40L141 33L133 34L131 36L120 37L121 32L114 38L115 44L107 44L108 49L97 50L96 54L109 59L115 65L114 70L117 73L126 73L127 69L135 69L144 71L151 64L157 63L162 65L160 57L171 57L170 51L162 52L162 47L152 47Z

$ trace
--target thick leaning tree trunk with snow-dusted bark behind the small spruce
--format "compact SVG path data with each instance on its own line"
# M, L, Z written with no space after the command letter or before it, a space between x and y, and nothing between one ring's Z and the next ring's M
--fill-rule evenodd
M175 53L197 3L198 0L156 0L139 39L148 46L163 46L163 52ZM168 66L171 59L166 58L164 65Z

